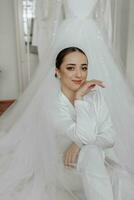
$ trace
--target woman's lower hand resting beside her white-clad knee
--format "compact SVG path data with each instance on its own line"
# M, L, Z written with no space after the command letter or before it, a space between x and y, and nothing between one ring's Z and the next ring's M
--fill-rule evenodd
M64 165L67 167L74 168L76 166L77 157L79 155L79 152L80 152L80 147L75 143L71 144L65 151Z

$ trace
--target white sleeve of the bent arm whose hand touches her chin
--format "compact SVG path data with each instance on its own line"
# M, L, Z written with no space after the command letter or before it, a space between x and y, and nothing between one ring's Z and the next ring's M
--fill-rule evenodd
M75 120L72 119L67 107L60 108L62 110L58 129L79 146L93 144L96 139L95 125L90 120L87 109L88 102L76 100L74 106L76 112Z

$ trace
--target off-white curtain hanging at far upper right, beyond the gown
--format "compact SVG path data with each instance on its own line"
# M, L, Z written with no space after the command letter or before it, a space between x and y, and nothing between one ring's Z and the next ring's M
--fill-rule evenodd
M112 0L113 53L126 71L130 0Z

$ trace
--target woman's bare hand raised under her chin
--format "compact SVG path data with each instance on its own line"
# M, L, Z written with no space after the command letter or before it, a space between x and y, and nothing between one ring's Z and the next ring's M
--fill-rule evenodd
M91 80L84 82L81 87L77 90L75 94L75 99L82 99L83 96L88 94L88 92L93 89L96 85L104 88L103 82L100 80Z

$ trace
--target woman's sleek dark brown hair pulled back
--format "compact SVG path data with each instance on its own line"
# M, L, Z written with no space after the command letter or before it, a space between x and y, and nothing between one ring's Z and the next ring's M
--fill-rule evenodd
M68 48L62 49L56 57L55 66L57 69L60 69L60 66L63 63L65 56L72 52L80 52L86 56L85 52L78 47L68 47ZM55 74L55 77L57 77L57 74Z

